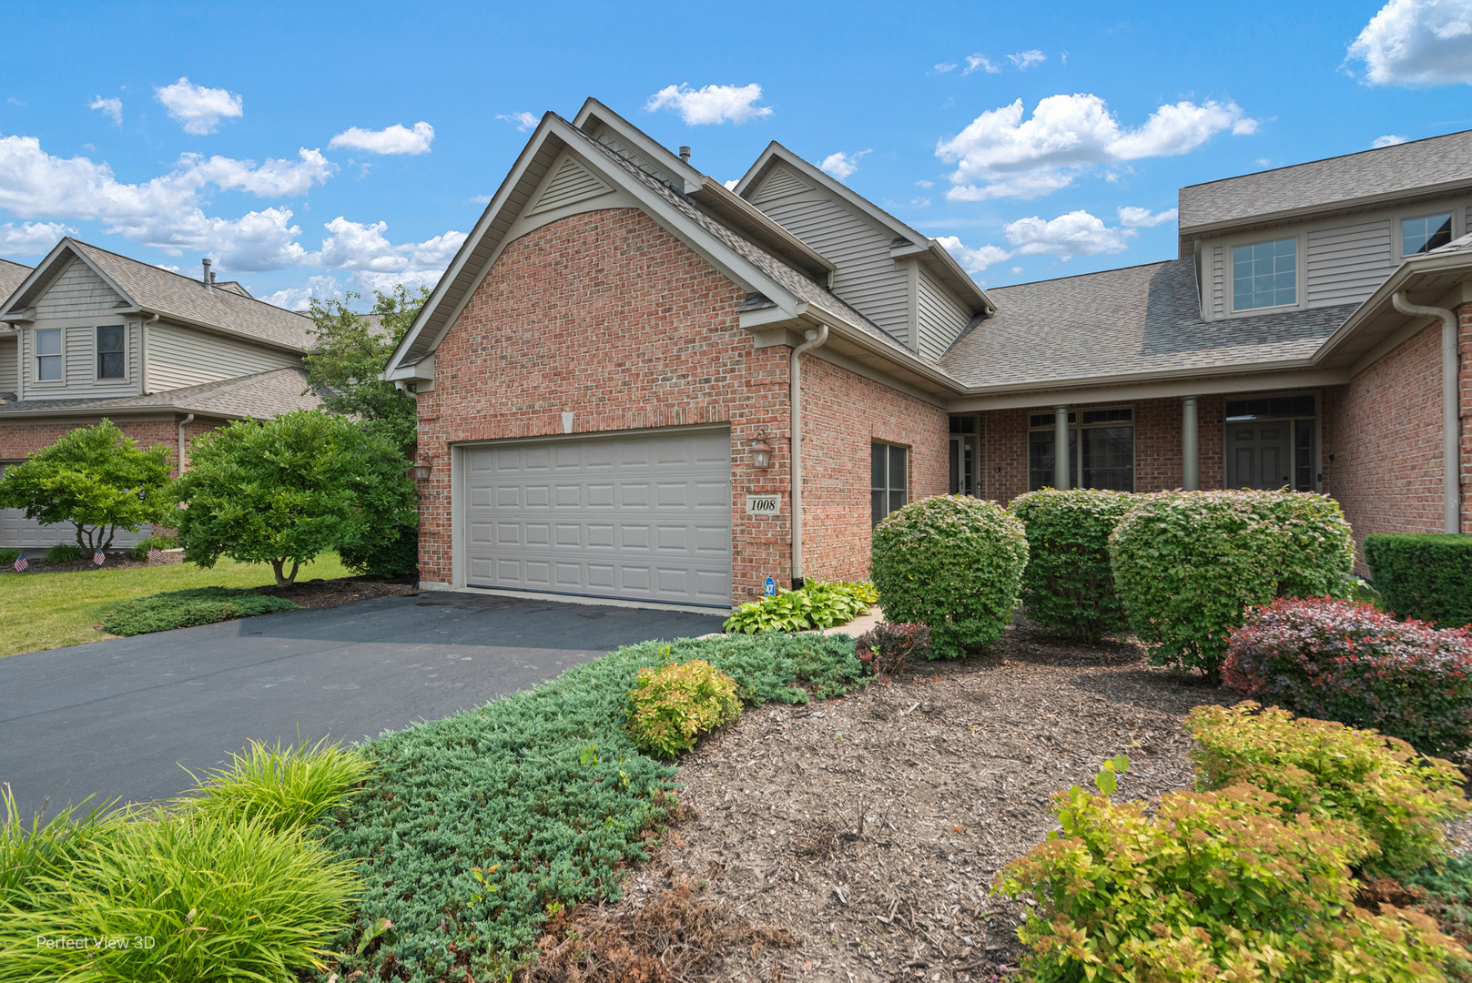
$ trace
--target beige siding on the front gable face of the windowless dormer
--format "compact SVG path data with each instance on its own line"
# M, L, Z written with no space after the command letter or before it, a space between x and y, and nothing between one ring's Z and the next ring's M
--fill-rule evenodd
M777 168L761 191L783 171ZM817 188L780 197L758 194L752 205L838 266L835 294L896 341L910 344L910 284L905 271L889 256L892 237L888 233Z

